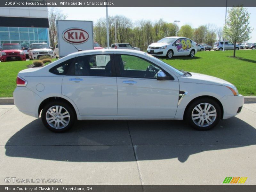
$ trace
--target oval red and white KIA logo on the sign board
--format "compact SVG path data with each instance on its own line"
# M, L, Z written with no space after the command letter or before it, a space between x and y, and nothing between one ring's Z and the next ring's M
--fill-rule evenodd
M62 33L62 38L73 44L82 44L89 39L89 34L80 28L69 28Z

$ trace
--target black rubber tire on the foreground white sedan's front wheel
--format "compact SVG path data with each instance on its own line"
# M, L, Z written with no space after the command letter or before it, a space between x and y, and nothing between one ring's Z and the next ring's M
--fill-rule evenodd
M216 117L215 118L213 116L210 117L210 115L209 115L214 110L210 111L209 114L207 113L208 111L203 111L204 113L202 113L202 115L200 115L200 113L198 112L198 118L193 120L192 119L192 113L193 113L193 115L197 115L197 114L194 113L194 112L197 112L196 110L194 110L194 108L196 106L198 106L199 104L200 104L201 107L204 107L205 106L204 103L208 103L208 104L211 104L213 106L213 108L211 107L208 111L215 108ZM193 101L192 103L189 104L188 108L185 111L185 116L184 117L185 117L186 121L190 124L190 126L193 127L194 129L199 130L199 131L210 130L213 127L215 127L220 121L220 117L221 117L220 105L215 100L213 100L211 98L200 98L200 99L197 99L197 100L195 100L195 101ZM207 125L206 121L209 122L209 120L208 120L209 118L212 118L213 122L211 124ZM197 125L194 121L196 123L199 123L199 124L200 124L200 122L203 121L203 126Z

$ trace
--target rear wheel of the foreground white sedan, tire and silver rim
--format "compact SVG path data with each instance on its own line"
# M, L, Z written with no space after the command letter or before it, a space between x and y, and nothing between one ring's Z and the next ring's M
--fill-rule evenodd
M45 105L42 110L44 126L52 132L66 132L75 123L73 108L62 101L52 101Z

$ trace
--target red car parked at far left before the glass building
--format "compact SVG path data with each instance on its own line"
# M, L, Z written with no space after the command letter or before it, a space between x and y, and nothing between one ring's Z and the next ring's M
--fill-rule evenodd
M25 61L26 54L18 43L2 44L2 48L0 50L0 60L1 62L13 60Z

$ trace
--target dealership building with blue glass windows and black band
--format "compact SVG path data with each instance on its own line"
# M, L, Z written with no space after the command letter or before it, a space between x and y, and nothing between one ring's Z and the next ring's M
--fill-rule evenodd
M18 43L48 43L49 22L47 7L0 7L0 46Z

